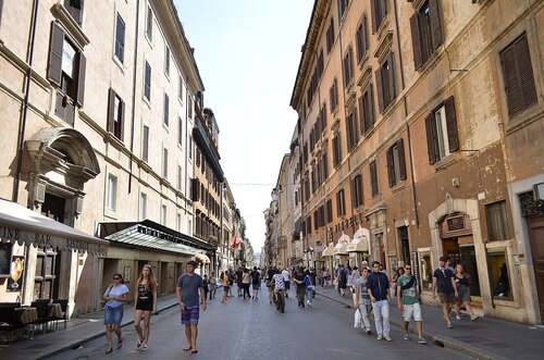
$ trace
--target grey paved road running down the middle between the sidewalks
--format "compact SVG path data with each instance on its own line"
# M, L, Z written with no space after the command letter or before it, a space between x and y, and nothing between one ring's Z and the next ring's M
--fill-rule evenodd
M136 350L133 326L123 328L124 345L104 355L106 338L86 343L78 349L52 359L466 359L449 349L416 339L404 340L392 328L393 342L376 340L353 328L353 310L323 297L314 299L313 308L301 309L293 297L285 313L268 302L267 294L259 300L231 298L227 303L213 300L201 312L198 337L199 352L182 351L186 340L180 325L177 308L152 316L148 351Z

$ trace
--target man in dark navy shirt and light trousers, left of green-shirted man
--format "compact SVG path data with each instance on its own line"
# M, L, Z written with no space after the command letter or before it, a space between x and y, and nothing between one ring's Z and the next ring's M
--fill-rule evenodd
M378 339L385 338L391 342L390 336L390 280L387 275L380 271L380 263L372 262L372 273L367 281L372 311L374 312L375 331Z

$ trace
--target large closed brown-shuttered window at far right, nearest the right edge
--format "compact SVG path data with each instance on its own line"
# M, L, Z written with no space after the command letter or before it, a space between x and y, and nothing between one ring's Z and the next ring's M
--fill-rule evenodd
M527 35L500 51L508 114L515 116L537 102Z

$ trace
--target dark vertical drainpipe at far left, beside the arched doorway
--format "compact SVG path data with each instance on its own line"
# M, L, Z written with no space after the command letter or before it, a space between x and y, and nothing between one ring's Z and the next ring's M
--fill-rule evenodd
M39 0L34 0L33 13L30 17L30 33L28 34L28 48L27 48L27 60L28 70L25 77L25 97L23 100L21 109L21 120L18 123L18 135L17 135L17 167L15 171L15 179L13 187L13 201L18 201L18 186L21 184L21 167L23 166L23 152L25 150L25 129L26 129L26 114L28 112L28 97L30 94L30 79L33 75L33 59L34 59L34 40L36 38L36 23L38 20L38 2Z

